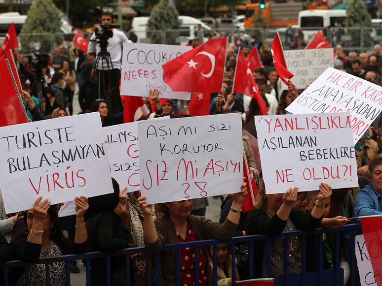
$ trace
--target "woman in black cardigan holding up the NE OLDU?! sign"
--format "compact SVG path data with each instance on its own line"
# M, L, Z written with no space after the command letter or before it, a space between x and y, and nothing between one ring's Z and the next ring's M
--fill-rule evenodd
M325 183L319 186L318 199L310 215L299 209L293 209L299 188L289 188L285 193L267 194L264 181L260 181L259 194L256 198L258 209L252 210L246 217L246 235L265 234L277 236L283 231L313 231L323 218L325 200L332 194L332 188ZM272 239L271 242L271 276L284 276L285 245L283 238ZM264 241L257 243L254 265L255 277L268 277L267 246ZM263 252L264 250L264 252ZM263 256L263 257L259 257ZM289 238L289 275L302 272L302 246L300 237Z

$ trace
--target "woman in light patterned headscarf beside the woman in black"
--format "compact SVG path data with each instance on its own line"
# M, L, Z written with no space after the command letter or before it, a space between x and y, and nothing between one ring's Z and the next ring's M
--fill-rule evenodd
M139 191L121 192L119 203L115 212L122 217L121 225L128 228L131 232L131 242L135 247L145 247L143 240L143 212L138 204ZM154 205L151 207L153 220L156 219ZM133 254L130 259L137 267L134 273L134 285L146 285L146 255Z

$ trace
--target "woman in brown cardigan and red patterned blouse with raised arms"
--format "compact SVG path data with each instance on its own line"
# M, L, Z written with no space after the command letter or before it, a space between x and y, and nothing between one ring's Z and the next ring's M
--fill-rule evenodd
M205 217L191 216L192 199L163 203L164 215L153 221L151 205L146 203L146 197L138 198L139 206L144 213L143 236L145 246L150 251L159 251L163 245L177 242L190 242L203 239L230 239L237 228L240 219L241 206L247 196L246 184L241 185L241 192L233 193L233 203L223 224L212 222ZM182 285L192 285L195 278L193 269L194 249L181 249L180 275ZM209 250L207 246L199 248L199 285L213 285L211 266L208 263ZM176 285L176 254L175 251L160 253L160 284Z

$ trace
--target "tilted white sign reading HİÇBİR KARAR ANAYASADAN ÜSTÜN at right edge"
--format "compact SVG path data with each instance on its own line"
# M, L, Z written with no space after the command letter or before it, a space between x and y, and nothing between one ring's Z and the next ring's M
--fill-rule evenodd
M353 145L381 112L382 87L329 67L286 110L294 114L349 111Z

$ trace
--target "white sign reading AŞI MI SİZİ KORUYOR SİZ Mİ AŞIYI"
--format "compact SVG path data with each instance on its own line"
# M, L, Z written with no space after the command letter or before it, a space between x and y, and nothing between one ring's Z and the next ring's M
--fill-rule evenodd
M140 122L142 195L152 204L239 192L241 130L240 113Z

